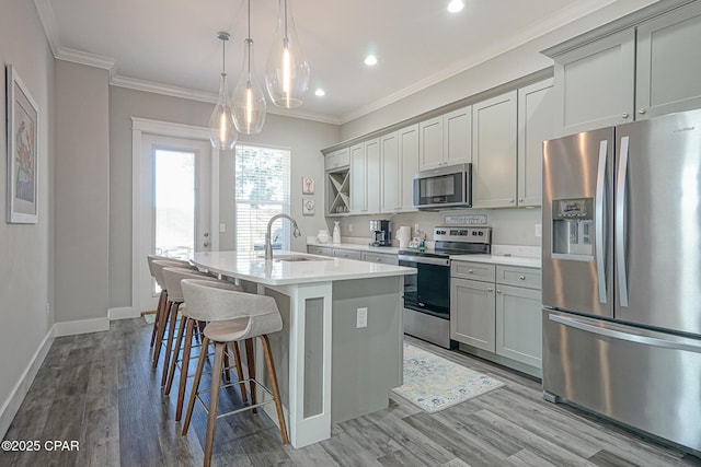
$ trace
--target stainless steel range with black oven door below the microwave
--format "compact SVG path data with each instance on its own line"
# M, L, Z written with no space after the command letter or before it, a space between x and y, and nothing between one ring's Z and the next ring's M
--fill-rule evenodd
M399 252L400 266L416 268L404 277L404 332L446 349L450 339L450 255L490 254L492 227L434 227L435 249Z

